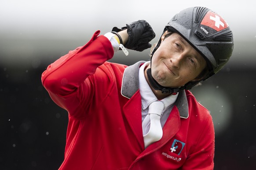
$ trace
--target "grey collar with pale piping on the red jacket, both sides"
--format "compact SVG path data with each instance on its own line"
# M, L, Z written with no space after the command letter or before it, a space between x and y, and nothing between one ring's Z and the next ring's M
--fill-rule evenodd
M139 61L129 67L126 67L123 75L123 82L121 88L122 96L131 99L135 92L139 89L139 67L145 61ZM179 92L179 96L175 105L179 110L179 115L182 118L188 118L188 102L185 90Z

